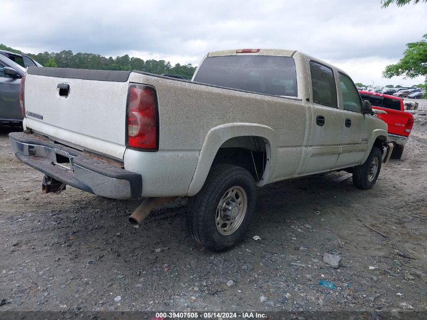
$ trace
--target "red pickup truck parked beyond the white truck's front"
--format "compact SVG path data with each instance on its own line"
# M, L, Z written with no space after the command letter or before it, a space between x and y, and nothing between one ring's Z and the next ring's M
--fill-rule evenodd
M388 125L389 139L387 142L395 145L391 158L400 159L414 124L412 114L405 112L403 99L361 90L359 90L359 94L362 100L368 100L371 103L373 109L387 112L387 114L381 113L376 116Z

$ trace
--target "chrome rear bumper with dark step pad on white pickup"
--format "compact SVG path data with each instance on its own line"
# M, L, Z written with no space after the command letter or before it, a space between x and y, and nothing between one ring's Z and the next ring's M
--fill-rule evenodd
M112 199L141 196L141 175L123 169L118 163L34 134L12 132L9 139L20 161L66 185Z

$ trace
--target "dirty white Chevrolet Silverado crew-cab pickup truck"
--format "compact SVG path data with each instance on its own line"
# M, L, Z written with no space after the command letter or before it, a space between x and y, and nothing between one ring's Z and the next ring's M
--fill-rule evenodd
M208 53L191 81L138 71L29 67L21 81L19 160L66 185L156 204L189 197L193 239L219 251L242 240L256 187L333 170L374 184L387 125L342 70L299 51ZM25 88L25 89L24 89Z

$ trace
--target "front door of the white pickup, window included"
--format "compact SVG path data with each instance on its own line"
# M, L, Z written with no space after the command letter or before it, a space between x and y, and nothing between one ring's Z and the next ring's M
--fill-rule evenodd
M338 78L340 104L344 109L344 132L337 168L359 164L366 154L369 139L367 119L362 114L362 100L356 86L341 72L338 72Z

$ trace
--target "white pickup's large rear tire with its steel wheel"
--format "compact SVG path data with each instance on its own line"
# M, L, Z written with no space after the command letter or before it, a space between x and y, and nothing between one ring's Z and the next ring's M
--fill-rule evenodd
M231 248L245 236L255 205L253 176L235 165L216 165L200 192L188 200L189 233L212 251Z

